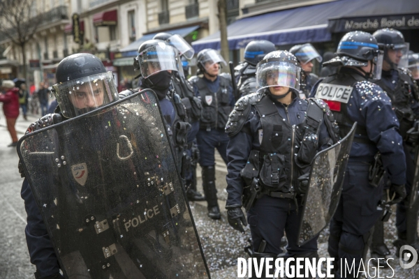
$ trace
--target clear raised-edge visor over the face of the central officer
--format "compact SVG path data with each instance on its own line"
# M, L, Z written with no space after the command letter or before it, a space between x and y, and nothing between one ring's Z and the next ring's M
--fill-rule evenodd
M256 70L256 89L260 91L271 86L286 86L298 91L300 72L299 66L279 59L260 64Z

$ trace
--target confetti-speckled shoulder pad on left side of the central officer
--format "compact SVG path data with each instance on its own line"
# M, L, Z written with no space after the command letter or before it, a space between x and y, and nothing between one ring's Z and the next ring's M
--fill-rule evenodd
M226 133L229 137L237 135L244 125L244 122L249 116L251 105L249 102L249 96L243 96L235 103L234 109L230 112L228 116L228 121L226 123Z

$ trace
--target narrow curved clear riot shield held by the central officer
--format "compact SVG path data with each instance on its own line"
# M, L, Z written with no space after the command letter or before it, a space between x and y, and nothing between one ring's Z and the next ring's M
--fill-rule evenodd
M355 128L356 123L346 137L317 153L313 159L298 232L299 246L317 236L337 209Z

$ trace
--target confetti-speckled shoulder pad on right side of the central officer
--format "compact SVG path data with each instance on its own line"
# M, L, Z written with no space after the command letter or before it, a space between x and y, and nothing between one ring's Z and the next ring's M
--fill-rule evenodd
M314 107L315 107L314 105L316 105L316 112L314 112ZM313 113L316 113L316 114L311 116L311 114ZM332 112L330 111L330 107L328 106L327 103L325 103L325 101L321 99L309 98L309 108L307 109L307 118L314 119L314 116L317 116L317 114L322 114L320 117L321 119L325 120L325 125L326 125L326 128L328 128L330 139L332 140L333 144L337 143L340 140L339 126L337 126L337 122L335 121L335 116L333 116ZM325 140L328 141L328 139L325 139ZM324 142L321 142L321 145L323 144Z

